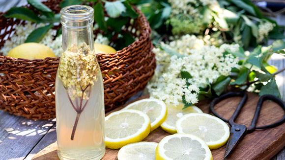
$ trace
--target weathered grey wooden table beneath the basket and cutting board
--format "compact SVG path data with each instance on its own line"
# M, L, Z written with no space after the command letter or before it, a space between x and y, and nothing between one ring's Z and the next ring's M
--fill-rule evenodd
M12 6L22 6L26 0L0 0L0 12ZM274 18L278 24L285 25L285 15ZM269 45L273 41L269 41ZM273 55L269 64L285 68L285 58ZM285 72L276 75L276 81L285 100ZM137 93L132 99L140 96ZM40 150L56 141L56 119L29 120L0 110L0 160L31 160ZM285 148L271 160L285 160Z

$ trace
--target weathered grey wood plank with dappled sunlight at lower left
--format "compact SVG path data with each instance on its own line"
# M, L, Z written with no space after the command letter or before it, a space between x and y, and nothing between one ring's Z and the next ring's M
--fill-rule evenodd
M53 124L0 111L0 159L23 160Z

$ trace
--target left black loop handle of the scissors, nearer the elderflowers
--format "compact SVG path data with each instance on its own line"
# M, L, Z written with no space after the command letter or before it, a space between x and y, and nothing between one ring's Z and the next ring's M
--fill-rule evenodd
M232 114L232 116L230 117L230 119L225 119L223 118L221 115L219 115L215 110L214 110L214 106L219 103L220 101L230 98L230 97L235 97L235 96L240 96L242 97L241 101L239 102L237 108L235 109L234 113ZM236 119L237 115L240 113L242 107L244 106L245 102L247 100L247 93L244 91L231 91L228 93L225 93L215 99L213 99L213 101L210 104L210 110L211 112L219 117L220 119L222 119L223 121L229 123L230 125L234 124L234 120Z

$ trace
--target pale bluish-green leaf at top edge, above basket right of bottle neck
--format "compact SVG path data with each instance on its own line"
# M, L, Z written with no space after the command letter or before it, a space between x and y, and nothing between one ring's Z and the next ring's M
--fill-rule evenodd
M105 9L108 15L112 18L119 17L122 12L126 11L126 7L124 4L117 0L117 1L106 1L105 2Z

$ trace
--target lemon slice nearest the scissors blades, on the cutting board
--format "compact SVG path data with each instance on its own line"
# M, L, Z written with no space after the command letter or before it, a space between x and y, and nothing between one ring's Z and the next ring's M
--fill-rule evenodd
M229 137L229 128L223 120L210 114L186 114L176 122L181 134L192 134L203 139L210 149L222 147Z

